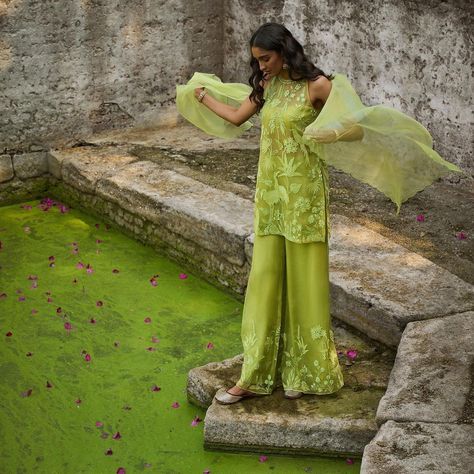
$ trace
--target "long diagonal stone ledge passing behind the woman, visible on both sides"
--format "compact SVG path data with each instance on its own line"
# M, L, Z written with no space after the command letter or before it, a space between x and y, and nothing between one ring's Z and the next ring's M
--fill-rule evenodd
M53 150L49 169L70 197L91 210L101 204L101 214L243 299L252 201L138 160L126 146ZM345 216L330 218L334 317L395 348L410 321L474 309L472 285Z

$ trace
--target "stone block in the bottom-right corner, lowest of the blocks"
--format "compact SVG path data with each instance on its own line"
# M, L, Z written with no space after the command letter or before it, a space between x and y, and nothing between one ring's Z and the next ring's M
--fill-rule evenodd
M470 474L474 426L387 421L365 447L361 474Z

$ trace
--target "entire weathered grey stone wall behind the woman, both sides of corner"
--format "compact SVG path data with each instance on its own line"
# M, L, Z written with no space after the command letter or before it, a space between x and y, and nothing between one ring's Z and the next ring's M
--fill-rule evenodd
M278 21L364 103L416 118L473 173L472 12L468 0L0 0L0 154L172 124L177 83L194 71L247 82L251 33Z

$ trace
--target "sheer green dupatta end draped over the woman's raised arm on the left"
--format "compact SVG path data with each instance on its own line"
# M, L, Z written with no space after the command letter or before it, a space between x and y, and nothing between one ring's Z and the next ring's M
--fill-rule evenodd
M214 74L195 72L187 84L176 86L176 107L186 120L207 134L220 138L238 137L252 127L252 122L248 120L237 126L219 117L198 102L194 95L196 87L205 87L212 97L232 107L239 107L252 92L252 88L245 84L223 83Z

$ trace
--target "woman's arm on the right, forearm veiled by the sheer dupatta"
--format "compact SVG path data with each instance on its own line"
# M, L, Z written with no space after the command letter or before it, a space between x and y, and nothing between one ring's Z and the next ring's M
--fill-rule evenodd
M324 105L331 93L331 89L332 82L324 76L320 76L315 81L309 81L310 96L314 99L314 102L319 99L319 101ZM350 120L341 122L341 128L333 130L318 130L315 134L312 134L312 138L318 143L334 143L340 140L351 142L362 140L363 137L364 130L362 127Z

